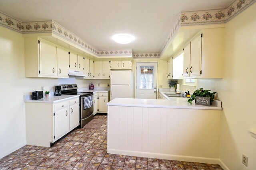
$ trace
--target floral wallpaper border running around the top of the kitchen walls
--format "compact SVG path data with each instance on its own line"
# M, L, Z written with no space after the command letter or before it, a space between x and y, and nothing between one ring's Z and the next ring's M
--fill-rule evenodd
M198 11L182 11L175 21L160 53L132 53L132 49L128 50L98 50L77 35L68 31L55 21L33 21L21 22L0 12L0 25L8 29L12 29L18 33L54 33L71 43L78 45L86 52L93 54L95 57L116 57L131 56L134 58L160 58L166 47L170 45L174 37L178 33L180 27L190 25L208 25L227 23L238 14L246 10L254 4L256 0L235 0L227 8L198 10Z

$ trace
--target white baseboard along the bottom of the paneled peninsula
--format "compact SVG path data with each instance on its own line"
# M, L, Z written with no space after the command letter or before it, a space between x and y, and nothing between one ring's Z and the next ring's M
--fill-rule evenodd
M218 159L218 158L204 158L204 157L182 156L182 155L173 155L173 154L136 152L136 151L130 151L130 150L108 149L108 153L123 154L123 155L129 155L129 156L148 157L148 158L168 159L168 160L181 160L181 161L187 161L187 162L201 162L201 163L207 163L207 164L219 164L220 163L220 159Z

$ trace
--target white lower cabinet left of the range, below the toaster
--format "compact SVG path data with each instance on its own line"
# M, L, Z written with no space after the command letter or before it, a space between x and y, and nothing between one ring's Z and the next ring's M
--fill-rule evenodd
M26 102L26 142L50 147L79 125L79 97L56 103Z

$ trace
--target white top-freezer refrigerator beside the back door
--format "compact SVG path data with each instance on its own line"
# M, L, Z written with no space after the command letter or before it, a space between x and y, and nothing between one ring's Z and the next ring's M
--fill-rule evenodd
M134 98L132 70L110 71L110 100L114 98Z

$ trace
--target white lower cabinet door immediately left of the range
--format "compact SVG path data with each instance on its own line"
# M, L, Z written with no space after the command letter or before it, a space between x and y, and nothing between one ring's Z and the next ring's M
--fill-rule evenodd
M69 109L69 130L79 125L79 104L70 106Z

